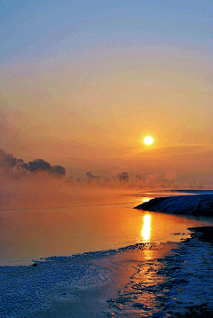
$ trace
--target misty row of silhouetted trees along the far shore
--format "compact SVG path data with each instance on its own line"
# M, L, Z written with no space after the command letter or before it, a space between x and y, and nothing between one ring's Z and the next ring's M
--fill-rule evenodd
M161 173L144 171L142 175L136 174L129 177L128 172L124 171L118 175L114 175L111 178L101 177L93 174L91 171L85 173L83 179L75 179L73 176L67 176L66 169L61 165L51 165L43 159L36 158L28 163L23 159L16 158L12 154L6 153L3 149L0 149L0 174L3 176L11 176L12 179L19 179L21 176L36 176L40 172L43 172L45 176L56 177L57 179L63 179L70 186L94 186L94 187L157 187L157 188L212 188L212 182L205 183L204 181L185 182L181 185L173 175L165 176ZM44 176L43 176L44 177ZM44 180L44 179L43 179Z

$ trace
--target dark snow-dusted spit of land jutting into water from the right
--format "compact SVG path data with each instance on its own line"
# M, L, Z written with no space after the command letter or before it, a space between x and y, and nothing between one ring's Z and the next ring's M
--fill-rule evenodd
M156 197L134 209L213 217L213 195Z

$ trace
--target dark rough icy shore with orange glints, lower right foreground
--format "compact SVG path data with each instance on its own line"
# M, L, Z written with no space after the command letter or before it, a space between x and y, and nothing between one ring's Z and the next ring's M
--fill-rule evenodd
M212 227L211 227L212 229ZM165 258L138 265L119 297L109 299L109 317L193 317L191 308L213 313L212 243L198 237L178 243ZM208 315L205 315L207 317ZM196 315L202 317L202 314Z

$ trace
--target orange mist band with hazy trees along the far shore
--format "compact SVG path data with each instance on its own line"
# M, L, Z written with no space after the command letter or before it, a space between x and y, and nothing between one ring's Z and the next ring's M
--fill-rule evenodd
M178 179L172 171L136 175L123 171L110 178L88 171L80 179L67 176L60 165L52 166L43 159L25 163L4 150L0 150L0 178L1 210L123 203L137 192L213 188L211 179Z

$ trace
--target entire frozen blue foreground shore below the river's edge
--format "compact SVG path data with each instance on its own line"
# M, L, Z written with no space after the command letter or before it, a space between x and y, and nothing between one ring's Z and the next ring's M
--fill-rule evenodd
M0 267L0 316L209 317L213 227L183 242L53 257ZM205 313L206 315L203 315Z

